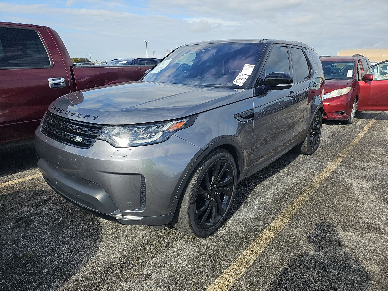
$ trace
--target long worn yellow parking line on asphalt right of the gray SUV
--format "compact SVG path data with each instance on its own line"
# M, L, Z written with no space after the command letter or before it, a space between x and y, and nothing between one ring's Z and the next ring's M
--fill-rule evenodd
M270 244L277 234L286 226L289 220L300 210L303 204L311 197L322 182L340 165L341 161L349 154L353 147L360 141L376 120L371 120L365 125L355 139L289 204L282 213L252 242L252 244L229 266L206 291L229 290L234 283L248 270L256 258Z

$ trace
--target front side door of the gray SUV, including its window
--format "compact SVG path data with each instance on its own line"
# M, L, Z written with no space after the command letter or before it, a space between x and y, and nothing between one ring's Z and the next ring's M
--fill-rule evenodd
M292 75L288 47L274 45L265 63L261 79L273 72ZM259 84L260 85L260 84ZM282 149L289 147L294 136L296 114L296 90L266 91L259 86L253 97L254 122L251 165L253 171Z

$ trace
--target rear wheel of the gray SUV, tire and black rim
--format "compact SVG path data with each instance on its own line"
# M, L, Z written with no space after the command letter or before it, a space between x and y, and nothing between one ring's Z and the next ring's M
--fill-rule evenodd
M313 121L308 129L307 135L303 142L293 148L294 152L300 154L314 154L320 143L320 133L322 130L322 113L320 111L315 114Z

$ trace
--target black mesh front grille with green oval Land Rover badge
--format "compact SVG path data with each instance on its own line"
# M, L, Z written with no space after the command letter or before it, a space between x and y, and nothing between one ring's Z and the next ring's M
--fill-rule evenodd
M100 125L69 120L47 111L41 130L59 142L86 149L92 146L102 129ZM75 137L81 137L82 141L76 142Z

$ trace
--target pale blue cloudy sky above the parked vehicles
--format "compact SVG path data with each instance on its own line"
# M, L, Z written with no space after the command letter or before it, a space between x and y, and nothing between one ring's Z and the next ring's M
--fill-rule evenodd
M2 1L2 0L0 0ZM0 2L0 21L55 29L71 57L164 57L203 40L300 41L318 54L388 48L387 0L50 0Z

